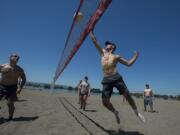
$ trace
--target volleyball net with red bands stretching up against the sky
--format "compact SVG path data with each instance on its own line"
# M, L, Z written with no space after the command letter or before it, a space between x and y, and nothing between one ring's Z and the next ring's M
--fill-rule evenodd
M54 82L64 71L74 54L77 52L90 30L94 28L97 21L103 15L112 0L80 0L76 13L83 13L83 19L76 21L77 14L66 39L65 47L62 51L58 67L55 72Z

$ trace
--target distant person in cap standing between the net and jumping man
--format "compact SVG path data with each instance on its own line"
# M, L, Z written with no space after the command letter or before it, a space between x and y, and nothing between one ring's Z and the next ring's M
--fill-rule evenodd
M85 76L84 80L79 84L79 95L80 95L80 109L85 111L86 101L88 96L90 96L90 84L88 83L88 77Z

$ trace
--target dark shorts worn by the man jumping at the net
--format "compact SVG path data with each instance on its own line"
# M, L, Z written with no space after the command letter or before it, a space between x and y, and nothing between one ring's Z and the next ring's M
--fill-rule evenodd
M104 77L102 80L103 91L102 91L102 98L109 98L112 95L113 88L117 88L119 94L124 94L125 91L128 92L127 86L123 81L123 78L118 73Z

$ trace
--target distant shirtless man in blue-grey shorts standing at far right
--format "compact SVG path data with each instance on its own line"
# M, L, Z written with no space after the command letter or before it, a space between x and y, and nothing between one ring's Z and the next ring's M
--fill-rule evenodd
M153 96L154 94L153 94L152 89L149 88L149 84L146 84L145 89L144 89L144 94L143 94L144 111L147 111L146 107L147 105L149 105L151 108L151 112L153 112L153 101L152 101Z

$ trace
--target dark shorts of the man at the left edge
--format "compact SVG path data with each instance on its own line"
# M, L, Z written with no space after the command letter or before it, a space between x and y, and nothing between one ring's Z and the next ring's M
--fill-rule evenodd
M0 100L5 98L6 100L17 101L17 85L0 85Z

